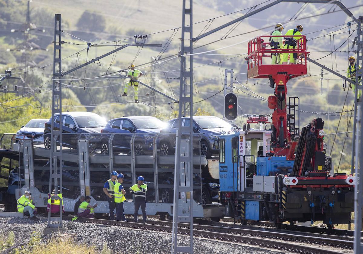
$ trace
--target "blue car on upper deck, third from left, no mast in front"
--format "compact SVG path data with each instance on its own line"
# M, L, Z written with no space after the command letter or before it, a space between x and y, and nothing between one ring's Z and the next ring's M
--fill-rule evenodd
M166 126L166 123L153 116L129 116L109 120L101 133L123 134L114 136L113 153L129 153L132 134L136 133L135 154L152 155L154 134ZM101 153L109 154L109 141L106 136L101 140Z

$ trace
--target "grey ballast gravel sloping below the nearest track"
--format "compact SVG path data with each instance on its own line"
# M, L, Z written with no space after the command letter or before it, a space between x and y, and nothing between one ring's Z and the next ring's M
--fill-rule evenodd
M27 218L0 217L0 234L7 235L15 233L13 246L0 252L1 254L13 253L15 248L27 246L32 232L42 235L48 223L48 218L39 216L40 221L33 222ZM88 246L94 246L101 252L104 243L111 253L170 253L171 234L162 232L151 232L140 229L122 228L118 226L106 226L82 222L64 221L63 226L68 228L66 234L72 234L74 240ZM65 233L56 233L62 235ZM50 235L42 236L46 242ZM189 237L180 236L178 245L186 245ZM249 246L225 241L209 240L205 238L194 238L194 253L256 253L276 254L284 253L281 250L264 249L259 246Z

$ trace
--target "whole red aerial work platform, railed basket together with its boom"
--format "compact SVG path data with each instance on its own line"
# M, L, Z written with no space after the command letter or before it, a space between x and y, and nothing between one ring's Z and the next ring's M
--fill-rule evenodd
M296 47L289 49L270 48L270 37L269 35L259 36L248 42L247 76L248 78L268 78L270 86L275 87L274 95L268 98L269 108L274 109L272 114L272 148L275 154L286 155L288 159L293 159L293 152L291 151L294 151L297 144L293 142L293 139L298 136L299 131L298 128L297 131L295 128L295 114L290 113L287 116L286 113L286 83L291 78L306 74L306 57L309 52L306 51L305 36L288 36L296 38ZM277 41L277 37L287 36L273 37L274 41ZM290 53L291 60L295 54L297 61L293 64L272 65L270 57L273 53ZM280 61L282 62L282 56ZM290 109L295 107L295 103L293 104L289 105ZM295 112L295 110L293 111Z

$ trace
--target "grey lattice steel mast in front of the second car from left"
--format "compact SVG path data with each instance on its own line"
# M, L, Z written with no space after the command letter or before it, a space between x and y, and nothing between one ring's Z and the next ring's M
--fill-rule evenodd
M54 114L59 114L62 119L62 29L61 15L56 14L54 18L54 51L53 51L53 89L52 89L52 130L50 132L50 169L49 169L49 193L52 194L52 182L54 179L54 194L62 193L62 124L59 130L54 130ZM58 139L59 138L59 139ZM59 152L57 152L57 139L59 140ZM59 161L59 167L58 167ZM59 190L58 190L59 189ZM56 226L62 228L62 198L53 196L51 199L60 200L60 216L51 217L48 212L48 228L52 221L57 221Z

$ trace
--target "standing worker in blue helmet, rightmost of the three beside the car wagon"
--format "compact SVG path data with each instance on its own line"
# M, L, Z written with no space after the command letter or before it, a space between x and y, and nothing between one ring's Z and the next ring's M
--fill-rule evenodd
M143 223L146 224L146 191L147 185L144 184L144 177L139 176L137 184L130 187L130 192L134 194L134 221L138 222L138 213L141 207Z

